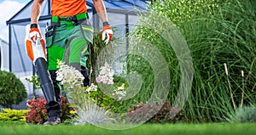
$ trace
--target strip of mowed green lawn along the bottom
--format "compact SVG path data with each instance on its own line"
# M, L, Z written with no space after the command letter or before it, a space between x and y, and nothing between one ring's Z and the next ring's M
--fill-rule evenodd
M108 130L93 125L42 126L27 125L25 122L0 121L2 135L66 135L66 134L104 134L104 135L255 135L256 123L203 123L203 124L143 124L127 130Z

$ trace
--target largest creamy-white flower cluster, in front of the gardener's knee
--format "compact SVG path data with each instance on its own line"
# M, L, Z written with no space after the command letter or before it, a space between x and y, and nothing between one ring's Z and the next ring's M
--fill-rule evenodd
M84 76L80 71L76 70L72 66L65 65L61 60L58 60L57 63L57 68L59 68L59 70L56 71L56 80L61 81L61 84L69 86L69 88L81 87Z

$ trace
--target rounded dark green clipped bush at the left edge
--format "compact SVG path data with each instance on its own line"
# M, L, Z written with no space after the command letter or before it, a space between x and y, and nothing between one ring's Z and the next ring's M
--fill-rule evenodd
M26 88L14 73L0 70L0 104L19 104L27 96Z

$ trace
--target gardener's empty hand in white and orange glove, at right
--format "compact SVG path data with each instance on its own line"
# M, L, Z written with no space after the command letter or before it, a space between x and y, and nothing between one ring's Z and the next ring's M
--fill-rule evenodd
M107 25L105 25L107 23ZM111 41L113 37L113 31L111 27L109 26L108 22L103 23L102 28L102 41L105 42L105 44L108 44L109 41Z

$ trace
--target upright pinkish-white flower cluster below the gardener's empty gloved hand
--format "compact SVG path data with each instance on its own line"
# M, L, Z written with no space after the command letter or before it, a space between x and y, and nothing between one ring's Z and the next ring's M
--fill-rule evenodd
M103 84L113 84L113 73L111 73L110 66L106 62L101 67L99 76L96 77L96 82L102 82Z

